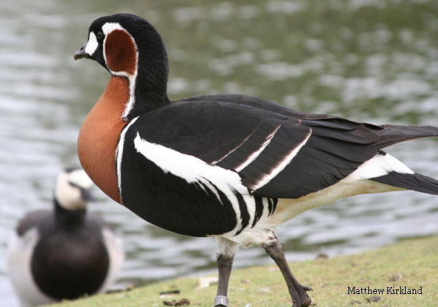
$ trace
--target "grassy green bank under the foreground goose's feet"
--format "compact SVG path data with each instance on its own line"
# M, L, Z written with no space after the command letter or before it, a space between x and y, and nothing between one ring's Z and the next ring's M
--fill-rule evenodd
M321 306L358 306L368 304L374 294L348 294L360 288L384 289L377 303L365 306L438 306L438 236L402 241L363 254L339 256L291 264L292 272L302 284L313 287L309 295ZM149 307L164 306L163 301L190 300L190 306L211 307L216 285L196 290L198 278L179 278L136 288L132 291L97 295L57 307ZM422 294L387 294L387 287L419 289ZM159 297L163 291L179 290L179 295ZM230 307L288 306L292 300L283 277L275 265L235 270L229 287Z

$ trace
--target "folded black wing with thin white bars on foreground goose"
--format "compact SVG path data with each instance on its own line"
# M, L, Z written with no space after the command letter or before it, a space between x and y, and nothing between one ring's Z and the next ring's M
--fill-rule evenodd
M206 95L148 112L130 130L236 171L254 195L298 198L339 182L381 147L415 138L394 136L394 127L296 112L255 97Z

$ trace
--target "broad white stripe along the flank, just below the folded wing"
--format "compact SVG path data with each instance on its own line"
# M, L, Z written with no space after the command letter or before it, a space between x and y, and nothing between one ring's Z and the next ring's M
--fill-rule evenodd
M183 178L189 184L207 186L211 192L216 194L219 201L220 197L216 188L222 191L232 204L235 203L237 208L239 208L238 201L229 186L232 186L240 193L248 194L246 188L242 185L240 176L234 171L207 164L194 156L180 153L159 144L149 143L147 140L142 139L140 134L137 134L134 145L138 152L157 164L164 173L172 173L172 175Z

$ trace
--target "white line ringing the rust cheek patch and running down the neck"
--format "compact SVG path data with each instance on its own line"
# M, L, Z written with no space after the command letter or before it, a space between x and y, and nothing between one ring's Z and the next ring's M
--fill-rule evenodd
M105 42L107 41L108 34L110 34L111 32L113 32L116 29L121 30L121 31L125 31L126 34L128 34L129 37L131 38L134 46L136 47L136 71L134 71L134 73L132 75L127 73L126 71L112 71L108 67L107 56L105 54ZM105 60L105 64L107 64L107 67L108 67L108 69L110 69L110 72L112 73L112 75L120 75L123 77L127 77L129 79L129 100L126 103L125 110L123 111L123 114L122 114L122 119L124 121L126 121L128 115L129 115L129 112L131 112L131 110L134 106L134 103L136 103L135 90L136 90L136 79L137 79L137 73L138 73L138 48L137 48L136 40L134 40L134 38L131 36L131 34L129 34L129 32L127 32L127 30L125 30L119 23L105 23L105 25L103 25L103 27L102 27L102 30L103 30L103 34L105 34L105 40L103 40L103 59Z

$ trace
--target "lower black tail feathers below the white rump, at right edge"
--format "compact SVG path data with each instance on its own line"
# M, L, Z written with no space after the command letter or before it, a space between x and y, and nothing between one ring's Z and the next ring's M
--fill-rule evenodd
M438 180L422 174L402 174L391 171L387 173L387 175L370 178L370 180L389 184L390 186L398 186L399 188L407 188L408 190L417 192L438 195Z

